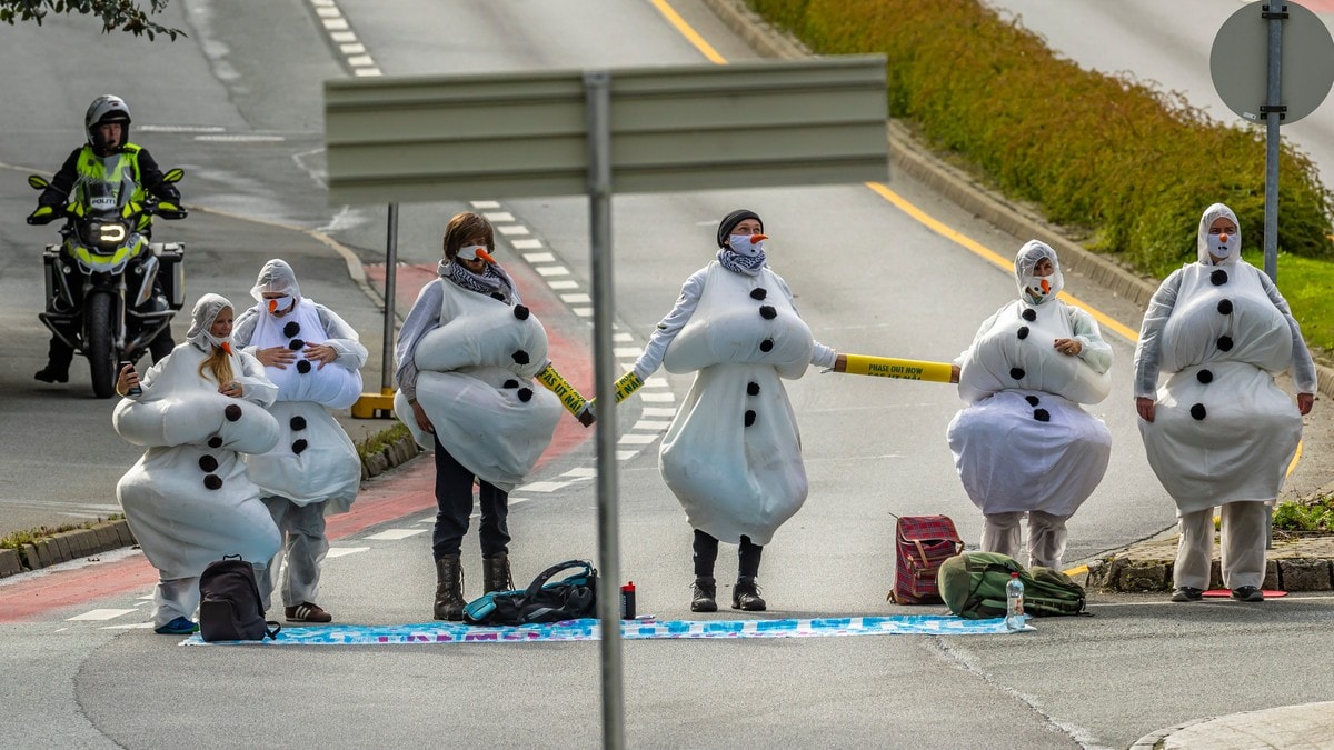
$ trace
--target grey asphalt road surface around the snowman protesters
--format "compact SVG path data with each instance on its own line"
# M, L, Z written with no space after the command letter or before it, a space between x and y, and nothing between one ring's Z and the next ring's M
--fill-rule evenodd
M675 7L723 56L748 56L700 5ZM650 3L399 0L339 8L386 75L700 60ZM191 247L191 299L220 291L243 300L263 260L284 256L293 260L303 291L344 314L374 356L380 343L375 303L350 279L346 259L309 234L328 232L366 263L383 252L382 207L323 202L319 85L350 75L351 67L316 19L297 0L244 12L173 3L167 23L189 25L192 36L171 47L96 36L88 23L65 19L48 20L40 32L0 27L0 60L12 67L43 61L32 76L7 83L11 96L32 105L0 111L7 133L0 161L53 168L77 143L79 116L92 96L123 81L155 80L160 71L159 84L125 91L136 137L159 160L189 169L181 185L187 203L244 218L197 211L171 226ZM111 63L113 80L87 73ZM31 380L45 348L35 286L44 235L21 223L33 195L23 172L0 175L12 177L0 180L0 206L12 218L0 223L0 330L15 355L0 364L7 396L0 408L15 410L0 412L0 510L8 522L37 503L51 503L56 514L71 510L55 504L65 500L107 504L136 451L117 444L111 404L88 398L85 383L53 388ZM999 234L900 175L888 184L1003 258L1027 239ZM862 185L618 196L615 295L627 348L642 346L680 282L708 262L718 218L738 206L766 218L772 263L803 316L818 339L844 352L951 359L1015 294L1009 271ZM403 262L434 263L440 227L460 207L406 207ZM543 320L570 338L567 351L578 351L587 323L536 267L563 264L587 291L586 200L515 200L488 211L511 214L507 224L524 227L530 234L522 236L554 254L551 262L528 262L503 243L499 259L519 274L526 296L544 306ZM1123 300L1082 279L1069 278L1067 291L1138 327ZM1113 430L1113 464L1070 524L1071 562L1173 523L1130 408L1131 343L1109 339L1114 395L1094 411ZM376 359L368 383L378 380L378 367ZM688 378L664 375L652 392L668 400L627 406L620 428L651 435L651 426L636 428L663 420L648 410L666 408L687 387ZM788 391L812 491L766 548L766 617L896 613L883 602L894 514L944 512L966 539L980 532L944 446L958 396L939 384L814 370ZM690 531L658 474L655 446L622 446L634 454L619 464L622 577L636 582L642 613L687 618ZM591 464L587 443L570 447L535 472L550 486L514 494L516 578L559 559L595 556ZM367 483L368 507L410 496L424 498L423 510L335 542L320 603L340 622L430 618L428 480L430 464L415 462ZM479 579L475 544L470 536L468 581ZM731 560L724 547L718 567L724 582ZM103 581L99 570L125 570L129 583ZM123 552L80 570L0 582L3 598L7 587L35 586L31 581L61 593L68 593L67 579L103 581L23 622L0 615L0 658L15 665L0 673L7 695L0 745L586 747L599 741L592 643L180 649L176 639L141 627L151 589L139 583L143 573L137 552ZM1023 635L627 643L627 743L1123 747L1191 718L1327 699L1325 673L1310 669L1310 654L1327 646L1327 606L1319 597L1258 607L1174 607L1161 597L1125 597L1099 599L1094 618L1045 621Z

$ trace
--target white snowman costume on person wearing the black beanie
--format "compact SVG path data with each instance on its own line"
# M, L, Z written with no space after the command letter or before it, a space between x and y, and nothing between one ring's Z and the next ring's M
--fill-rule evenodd
M767 263L751 275L715 260L686 279L634 371L640 380L659 366L698 372L658 463L691 527L763 546L800 510L808 488L802 438L780 378L800 378L807 364L832 367L835 356L814 340Z

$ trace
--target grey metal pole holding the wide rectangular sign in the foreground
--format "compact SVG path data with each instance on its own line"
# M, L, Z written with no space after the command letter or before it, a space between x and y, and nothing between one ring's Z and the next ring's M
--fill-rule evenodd
M626 746L620 663L620 520L616 496L616 394L611 350L611 73L584 73L588 113L588 218L592 258L592 362L598 399L598 618L602 621L602 746Z

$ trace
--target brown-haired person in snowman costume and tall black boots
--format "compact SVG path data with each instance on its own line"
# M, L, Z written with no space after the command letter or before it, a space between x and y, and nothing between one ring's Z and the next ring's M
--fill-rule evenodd
M556 430L562 400L548 388L568 383L547 359L542 323L491 255L491 223L458 214L442 244L439 275L422 287L399 331L394 411L418 444L435 451L432 611L436 619L460 621L467 603L462 544L474 483L482 591L512 589L510 491L532 471ZM535 379L546 387L536 388ZM587 410L580 420L591 423Z

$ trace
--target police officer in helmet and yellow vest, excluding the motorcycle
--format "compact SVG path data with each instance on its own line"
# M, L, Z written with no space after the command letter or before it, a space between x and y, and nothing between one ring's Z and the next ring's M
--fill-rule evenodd
M143 200L149 194L161 202L180 204L180 191L176 185L163 180L163 172L157 161L148 153L148 149L129 143L129 107L119 96L103 95L92 100L88 112L84 115L84 129L88 133L88 143L76 148L51 180L51 185L37 198L37 210L28 215L29 224L48 224L63 218L61 210L69 203L69 191L80 177L105 179L105 159L123 156L119 161L128 163L133 171L136 184L133 200ZM152 216L144 215L140 219L139 231L147 238L151 231ZM165 310L165 299L161 290L155 284L153 295L145 307ZM171 327L164 327L161 334L149 343L148 351L153 362L171 354L175 342L171 338ZM69 363L73 360L73 350L60 340L51 338L47 354L47 367L33 375L44 383L67 383L69 380Z

